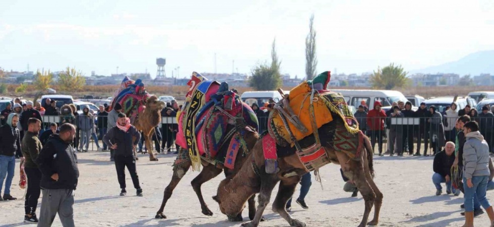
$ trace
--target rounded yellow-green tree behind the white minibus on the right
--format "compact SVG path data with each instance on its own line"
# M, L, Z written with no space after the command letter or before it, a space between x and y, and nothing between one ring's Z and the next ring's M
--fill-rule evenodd
M401 65L395 66L391 63L383 69L378 68L377 72L374 71L374 74L369 77L369 82L374 88L391 90L395 87L406 87L410 83L406 75L407 72Z

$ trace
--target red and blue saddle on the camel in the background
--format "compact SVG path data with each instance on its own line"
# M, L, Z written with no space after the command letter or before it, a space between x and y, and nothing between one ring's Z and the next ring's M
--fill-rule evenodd
M144 83L141 79L134 81L125 77L120 88L113 94L110 109L119 103L122 106L122 112L130 118L131 124L134 125L137 116L146 107L144 103L149 97L151 95L144 89Z

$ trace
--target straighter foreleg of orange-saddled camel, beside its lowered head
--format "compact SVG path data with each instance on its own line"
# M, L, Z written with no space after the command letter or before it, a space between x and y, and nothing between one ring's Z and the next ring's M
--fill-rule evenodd
M264 172L264 171L263 171ZM261 178L261 191L259 192L256 215L254 216L254 220L242 223L242 227L257 227L264 213L264 209L268 206L271 193L273 192L274 187L278 183L279 179L275 175L268 175L266 173L262 173L264 176Z

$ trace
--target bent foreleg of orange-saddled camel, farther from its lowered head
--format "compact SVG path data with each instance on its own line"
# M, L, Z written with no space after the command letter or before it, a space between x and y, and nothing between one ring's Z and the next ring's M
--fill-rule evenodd
M298 182L300 182L300 177L298 176L281 180L278 194L273 202L273 212L279 213L283 219L288 221L290 226L304 227L304 222L292 218L292 216L286 212L285 209L286 202L288 202L288 200L292 197Z

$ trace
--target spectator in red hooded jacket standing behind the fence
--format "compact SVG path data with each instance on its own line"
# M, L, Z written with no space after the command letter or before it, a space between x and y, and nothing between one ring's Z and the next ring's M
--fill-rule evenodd
M381 109L380 101L374 102L374 109L367 113L367 130L372 143L372 148L376 145L376 139L379 142L379 155L383 156L383 136L384 136L384 120L386 113Z

